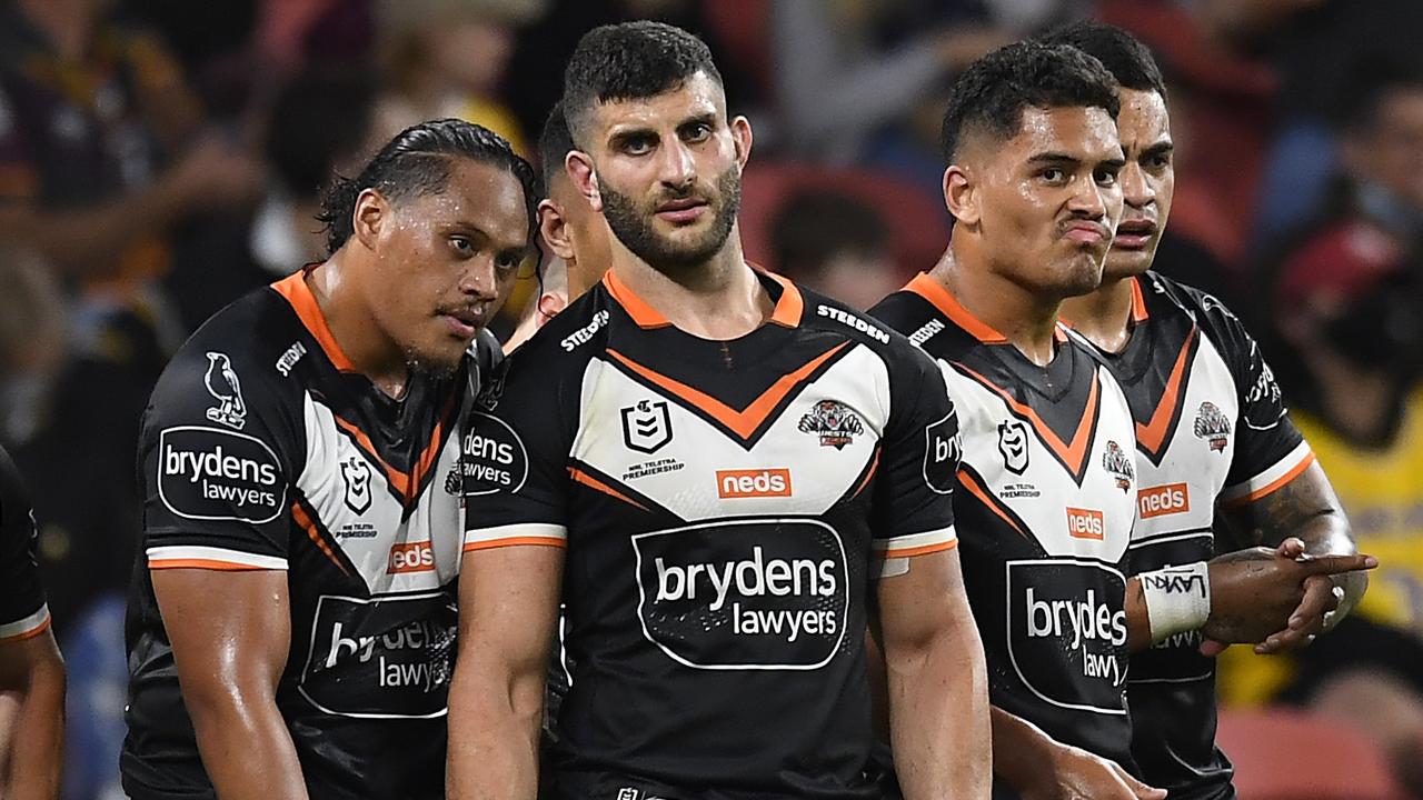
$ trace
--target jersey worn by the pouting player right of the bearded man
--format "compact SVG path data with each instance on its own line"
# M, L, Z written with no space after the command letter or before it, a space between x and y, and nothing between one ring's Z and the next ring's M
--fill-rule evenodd
M869 312L933 356L963 451L953 514L995 706L1130 763L1126 558L1131 414L1090 347L1057 330L1040 367L919 275Z

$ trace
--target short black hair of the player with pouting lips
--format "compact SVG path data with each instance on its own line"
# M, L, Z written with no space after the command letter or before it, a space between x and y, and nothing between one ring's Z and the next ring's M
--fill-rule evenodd
M1066 44L1016 41L1000 47L953 83L939 132L943 159L953 164L969 131L1007 141L1022 128L1025 110L1073 107L1103 108L1117 118L1117 81L1101 61Z

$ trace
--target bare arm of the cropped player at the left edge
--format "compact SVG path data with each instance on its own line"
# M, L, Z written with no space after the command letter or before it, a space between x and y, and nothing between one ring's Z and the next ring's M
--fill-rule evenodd
M60 767L64 753L64 662L54 639L36 642L36 659L28 685L20 693L14 749L4 797L10 800L54 800L60 796Z

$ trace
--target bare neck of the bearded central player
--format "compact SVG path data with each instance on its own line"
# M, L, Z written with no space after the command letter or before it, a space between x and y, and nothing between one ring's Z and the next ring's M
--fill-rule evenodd
M770 319L774 303L741 256L736 229L704 263L657 269L613 242L612 272L677 329L700 339L739 339Z

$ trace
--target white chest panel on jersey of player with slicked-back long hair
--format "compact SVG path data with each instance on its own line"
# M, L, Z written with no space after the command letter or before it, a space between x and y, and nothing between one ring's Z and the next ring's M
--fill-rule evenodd
M343 434L330 409L305 397L306 465L296 480L371 595L438 589L460 574L460 427L431 465L430 485L404 517L383 467ZM453 490L453 491L451 491Z

